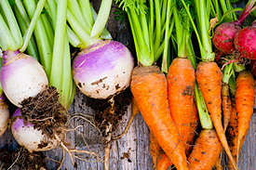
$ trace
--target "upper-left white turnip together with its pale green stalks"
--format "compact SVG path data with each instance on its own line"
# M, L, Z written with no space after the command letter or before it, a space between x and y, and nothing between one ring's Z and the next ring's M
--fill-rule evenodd
M7 98L18 107L21 107L22 100L35 97L39 92L45 90L48 85L47 74L39 62L22 53L28 45L28 39L31 37L36 20L45 3L46 0L38 2L34 19L24 36L24 41L8 1L2 0L0 3L7 18L6 23L0 16L0 40L3 50L1 84Z

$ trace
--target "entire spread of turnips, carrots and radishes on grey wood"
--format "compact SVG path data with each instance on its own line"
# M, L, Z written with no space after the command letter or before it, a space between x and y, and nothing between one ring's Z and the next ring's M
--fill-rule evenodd
M123 10L117 19L127 16L137 63L105 28L113 3ZM256 0L232 3L103 0L96 12L88 0L0 0L0 137L9 127L28 162L56 148L73 164L75 153L99 158L66 140L77 89L103 134L105 170L111 142L139 113L153 169L222 169L222 152L229 169L239 169L255 99ZM113 137L130 103L125 132Z

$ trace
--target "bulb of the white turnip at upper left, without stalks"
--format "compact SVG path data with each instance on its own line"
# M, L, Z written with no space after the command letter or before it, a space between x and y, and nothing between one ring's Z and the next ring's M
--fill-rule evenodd
M47 89L47 74L33 57L17 51L3 52L1 85L7 98L17 107L29 97Z

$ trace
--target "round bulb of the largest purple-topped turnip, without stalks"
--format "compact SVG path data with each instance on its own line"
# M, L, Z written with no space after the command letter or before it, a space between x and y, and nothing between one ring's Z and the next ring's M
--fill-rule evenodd
M126 46L101 40L74 59L74 82L88 97L108 98L129 86L133 67L134 61Z

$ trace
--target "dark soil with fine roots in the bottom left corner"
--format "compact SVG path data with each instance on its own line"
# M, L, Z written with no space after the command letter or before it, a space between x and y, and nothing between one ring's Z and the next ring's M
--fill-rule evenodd
M0 149L0 161L0 169L3 170L7 170L10 166L12 169L48 169L46 156L42 151L30 153L21 147L16 150Z

